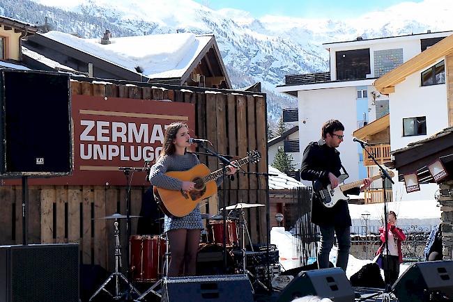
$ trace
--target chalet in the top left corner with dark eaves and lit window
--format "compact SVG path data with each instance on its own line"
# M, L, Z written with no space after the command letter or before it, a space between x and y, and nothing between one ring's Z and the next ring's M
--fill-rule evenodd
M0 66L25 70L22 42L38 31L36 26L8 17L0 17Z

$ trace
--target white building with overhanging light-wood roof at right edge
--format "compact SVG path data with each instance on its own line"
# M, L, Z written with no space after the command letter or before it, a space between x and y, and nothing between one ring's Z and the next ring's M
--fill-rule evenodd
M377 79L374 85L390 97L392 151L453 126L453 35ZM417 172L420 183L431 177L422 170L404 171L412 172ZM395 200L433 199L438 189L436 184L421 184L421 191L406 193L404 182L398 180L403 180L403 175L394 177Z

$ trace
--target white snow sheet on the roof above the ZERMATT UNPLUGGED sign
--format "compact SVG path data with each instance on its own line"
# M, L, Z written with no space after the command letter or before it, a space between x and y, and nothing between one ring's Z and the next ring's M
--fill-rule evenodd
M213 38L213 35L167 33L110 38L111 44L102 45L100 38L77 38L60 31L43 35L132 72L140 67L142 74L151 79L182 77Z

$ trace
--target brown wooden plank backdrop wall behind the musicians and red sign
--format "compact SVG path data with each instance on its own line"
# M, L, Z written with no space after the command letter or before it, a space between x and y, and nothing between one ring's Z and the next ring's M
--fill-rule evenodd
M243 167L249 172L267 172L266 95L233 90L214 90L187 86L141 86L93 84L71 81L72 95L123 97L144 100L173 100L196 104L198 137L213 143L221 154L245 157L248 150L259 150L261 161ZM51 147L49 147L51 148ZM210 170L219 168L217 159L200 156ZM1 180L0 180L1 182ZM266 204L266 179L238 174L219 189L218 198L209 198L202 213L216 213L223 189L227 205L236 202ZM131 214L138 215L143 193L148 189L132 186ZM29 186L28 244L79 243L83 264L100 264L114 270L114 227L111 219L93 219L126 213L125 186ZM22 187L1 182L0 244L22 244ZM266 207L246 211L253 243L266 242ZM121 220L123 263L128 246L125 221ZM137 219L132 219L132 235Z

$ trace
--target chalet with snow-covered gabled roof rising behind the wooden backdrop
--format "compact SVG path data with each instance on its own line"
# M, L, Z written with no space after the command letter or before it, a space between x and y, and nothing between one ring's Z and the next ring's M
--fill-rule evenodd
M36 70L76 70L88 77L231 89L214 35L169 33L100 39L49 31L24 42ZM51 63L49 63L49 61Z

